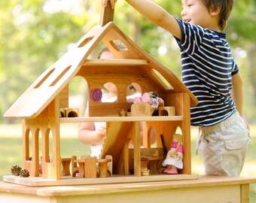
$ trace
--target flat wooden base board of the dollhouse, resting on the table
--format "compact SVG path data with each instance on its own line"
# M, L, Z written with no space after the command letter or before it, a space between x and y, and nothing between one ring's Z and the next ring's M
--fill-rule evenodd
M149 176L135 177L128 176L111 176L105 178L81 178L81 177L61 177L60 180L43 179L42 177L18 177L8 175L3 177L3 181L7 183L15 183L23 186L72 186L72 185L90 185L90 184L106 184L106 183L140 183L154 181L169 180L196 180L198 174L154 174Z

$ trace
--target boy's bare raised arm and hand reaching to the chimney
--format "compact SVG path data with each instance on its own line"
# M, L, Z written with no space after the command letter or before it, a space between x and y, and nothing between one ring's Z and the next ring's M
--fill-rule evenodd
M108 1L111 2L111 7L114 8L117 0L102 0L102 5L106 6ZM178 22L160 5L150 0L126 0L126 2L133 6L142 16L150 20L151 23L162 27L176 38L181 38L181 29Z

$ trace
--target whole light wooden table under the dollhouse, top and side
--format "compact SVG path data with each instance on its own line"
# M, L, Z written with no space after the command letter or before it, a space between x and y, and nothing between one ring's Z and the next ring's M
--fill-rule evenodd
M249 203L252 177L200 176L197 180L109 183L80 186L22 186L0 182L0 202L232 202Z

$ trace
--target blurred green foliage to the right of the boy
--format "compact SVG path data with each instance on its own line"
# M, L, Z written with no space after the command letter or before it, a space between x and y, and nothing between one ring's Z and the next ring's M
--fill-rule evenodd
M245 117L256 122L256 1L235 1L226 29L233 56L239 65L245 89Z

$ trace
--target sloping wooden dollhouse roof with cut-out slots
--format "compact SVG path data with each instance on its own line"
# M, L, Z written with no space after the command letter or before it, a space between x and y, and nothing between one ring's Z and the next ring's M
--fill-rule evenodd
M100 41L111 50L115 57L113 60L122 61L127 65L133 62L142 63L139 66L141 71L151 80L159 83L163 87L163 92L187 92L187 95L190 96L190 105L197 105L197 98L169 68L157 62L128 38L113 22L109 22L105 26L95 26L90 29L72 49L44 71L26 89L26 92L6 111L4 117L13 119L37 117L53 101L53 98L59 95L62 89L69 84L70 80L78 74L81 67L86 67L83 66L84 64L93 64L93 59L88 59L88 56ZM126 50L119 50L115 41L124 44ZM104 64L104 60L102 64ZM167 84L157 76L156 72L163 76Z

